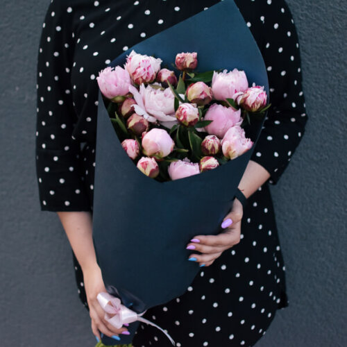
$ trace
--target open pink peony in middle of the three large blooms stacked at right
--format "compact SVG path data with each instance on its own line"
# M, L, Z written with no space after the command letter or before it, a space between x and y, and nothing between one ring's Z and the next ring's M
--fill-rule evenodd
M242 123L241 110L235 111L233 108L214 103L206 112L203 120L212 121L205 126L205 130L210 135L216 135L222 139L230 127Z

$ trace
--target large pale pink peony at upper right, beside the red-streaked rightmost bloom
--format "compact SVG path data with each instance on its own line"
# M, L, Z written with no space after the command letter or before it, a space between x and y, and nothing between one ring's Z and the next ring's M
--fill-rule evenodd
M244 71L233 69L227 72L214 71L212 77L212 93L216 100L235 99L237 93L244 92L248 88L248 81Z

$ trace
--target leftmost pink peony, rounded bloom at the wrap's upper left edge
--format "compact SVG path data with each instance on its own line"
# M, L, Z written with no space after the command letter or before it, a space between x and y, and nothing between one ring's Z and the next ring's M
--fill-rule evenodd
M131 85L128 71L119 66L106 67L101 70L96 81L98 81L101 93L110 100L115 99L114 101L117 101L117 96L128 94Z

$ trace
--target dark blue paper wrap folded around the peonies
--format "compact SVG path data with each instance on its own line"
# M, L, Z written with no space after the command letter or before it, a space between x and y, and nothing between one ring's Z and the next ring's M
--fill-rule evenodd
M187 35L189 33L189 35ZM131 47L126 55L153 55L171 66L176 53L196 51L198 71L243 69L248 82L269 83L264 60L239 9L225 0ZM256 142L264 117L251 119L247 137ZM188 262L194 235L216 235L229 212L253 148L216 169L158 182L142 174L121 146L99 93L94 179L93 239L106 289L141 314L182 295L199 271ZM160 325L160 322L157 322ZM133 340L138 323L121 335ZM104 344L115 341L105 337Z

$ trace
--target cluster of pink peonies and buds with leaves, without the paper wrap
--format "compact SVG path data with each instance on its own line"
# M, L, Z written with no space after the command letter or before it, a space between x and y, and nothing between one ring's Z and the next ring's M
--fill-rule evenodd
M121 146L143 174L176 180L215 169L253 146L244 126L266 105L244 71L196 72L198 55L178 53L179 73L132 51L124 67L99 72L99 88Z

